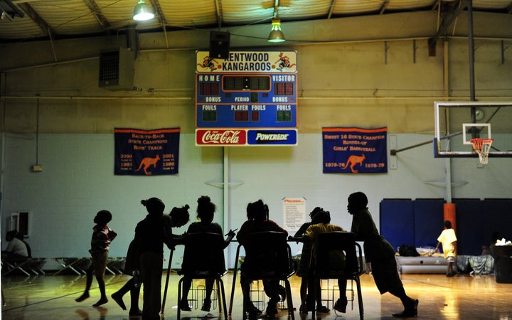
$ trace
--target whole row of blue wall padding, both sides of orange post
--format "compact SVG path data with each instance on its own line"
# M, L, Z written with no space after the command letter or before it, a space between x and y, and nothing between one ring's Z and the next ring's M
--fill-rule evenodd
M491 235L512 240L512 199L453 199L457 215L457 254L481 255ZM437 245L443 230L443 199L383 199L380 234L397 250L400 245ZM442 251L439 248L439 251Z

